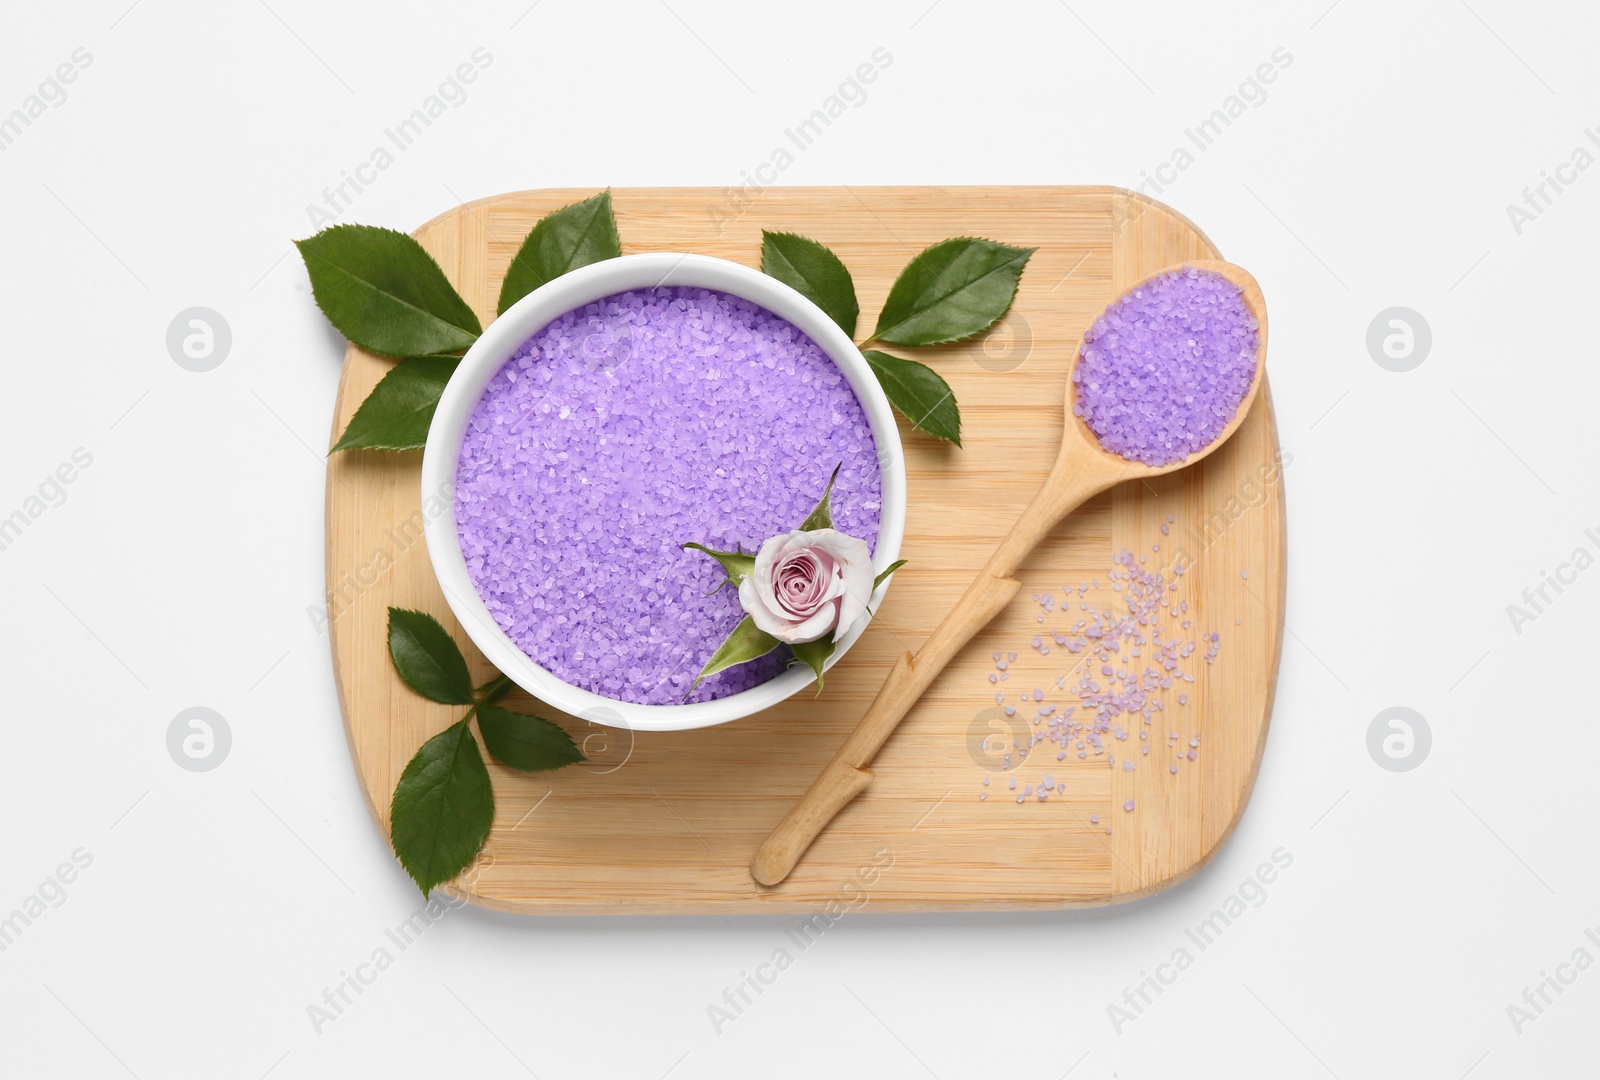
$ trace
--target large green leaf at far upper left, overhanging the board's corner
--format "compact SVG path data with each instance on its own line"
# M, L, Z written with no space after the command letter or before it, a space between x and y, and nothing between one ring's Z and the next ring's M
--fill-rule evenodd
M294 246L317 306L362 349L387 357L458 352L483 333L434 258L403 232L333 226Z

